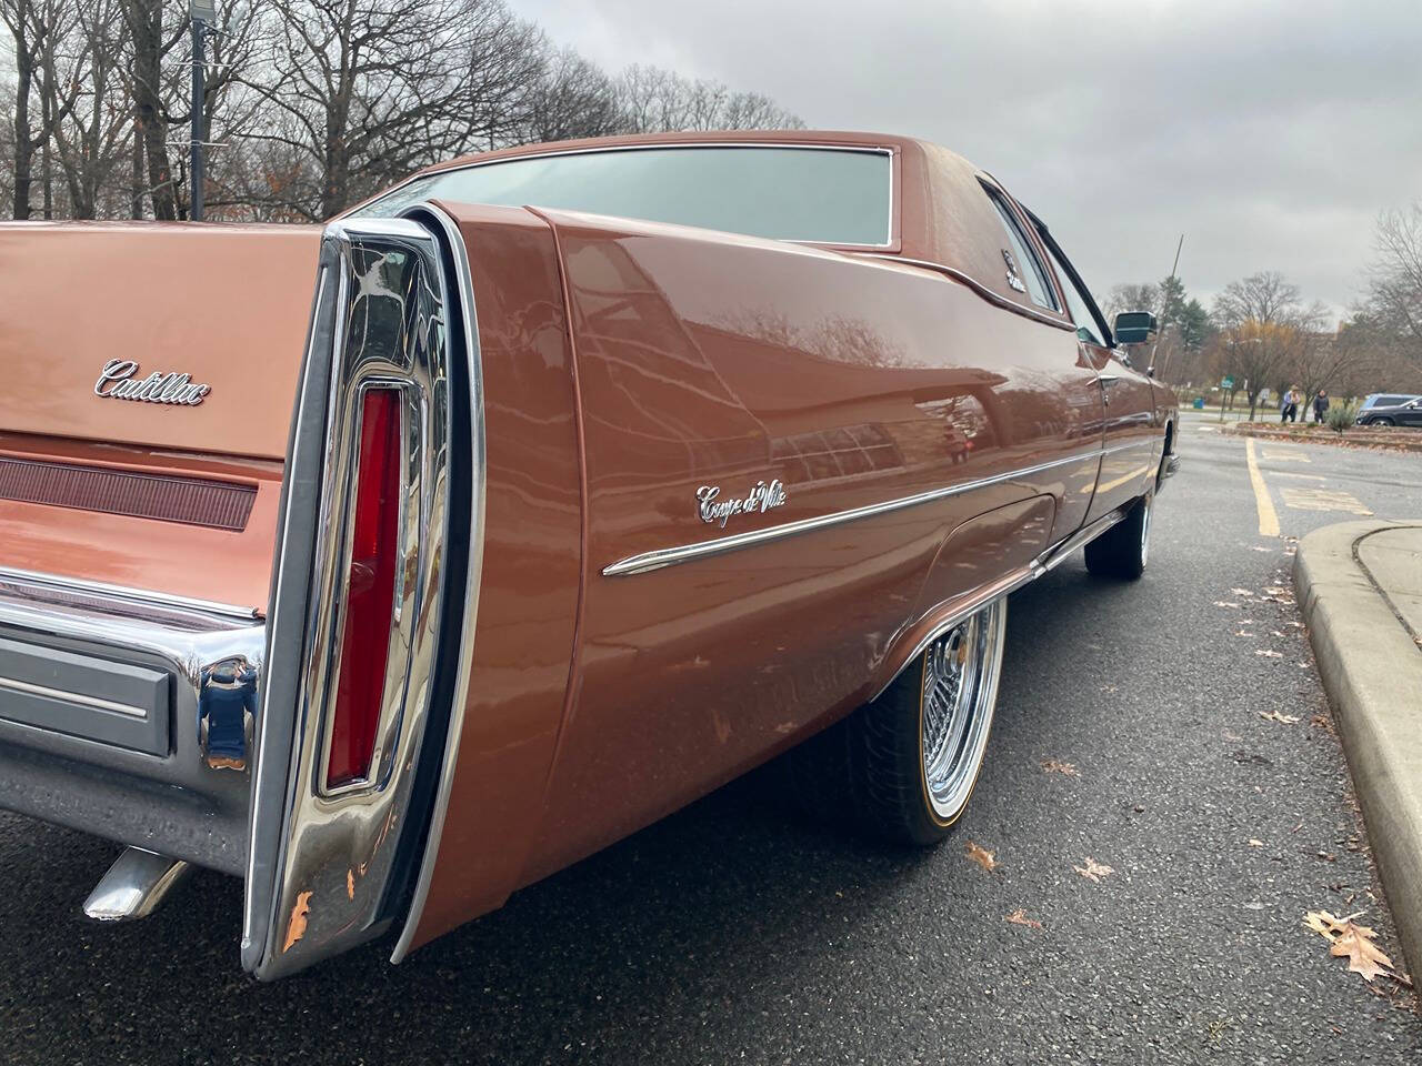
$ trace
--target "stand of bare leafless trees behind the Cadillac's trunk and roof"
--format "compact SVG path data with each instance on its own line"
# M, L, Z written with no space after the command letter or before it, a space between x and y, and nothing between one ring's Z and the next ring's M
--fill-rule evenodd
M16 41L0 51L13 213L186 217L188 0L0 0L0 18ZM801 125L720 82L609 77L505 0L218 0L205 38L213 219L321 219L424 165L528 141Z

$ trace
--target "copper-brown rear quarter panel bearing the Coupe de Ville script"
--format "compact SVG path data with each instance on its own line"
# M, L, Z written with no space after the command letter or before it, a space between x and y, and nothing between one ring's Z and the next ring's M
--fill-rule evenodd
M1069 459L1099 442L1075 335L917 267L671 226L549 213L584 412L577 664L520 881L674 810L822 728L883 679L934 597L987 578L943 560L968 519L1079 524L1092 453L1048 472L644 574L631 554ZM697 490L781 479L725 530ZM491 509L492 510L492 509ZM1003 512L1004 515L1008 512ZM1021 532L1000 530L1010 543ZM991 556L991 553L988 553ZM981 557L981 556L980 556ZM1000 560L1001 561L1001 560Z

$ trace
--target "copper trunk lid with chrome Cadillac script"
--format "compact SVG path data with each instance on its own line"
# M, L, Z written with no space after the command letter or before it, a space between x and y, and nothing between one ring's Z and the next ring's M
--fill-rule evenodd
M0 431L283 458L320 235L0 225Z

